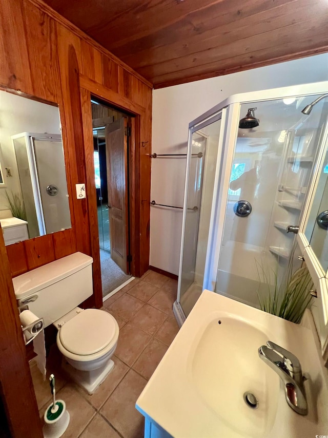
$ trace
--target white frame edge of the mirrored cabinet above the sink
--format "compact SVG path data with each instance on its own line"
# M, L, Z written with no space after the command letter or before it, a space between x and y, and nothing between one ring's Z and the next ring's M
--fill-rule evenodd
M324 333L328 333L328 270L326 272L323 270L320 261L318 260L312 246L310 245L308 238L305 236L305 230L310 218L311 207L318 187L320 174L328 153L327 148L328 120L326 121L323 136L320 141L313 175L309 185L308 197L305 200L303 214L300 219L299 232L296 237L297 243L302 253L303 260L310 272L314 283L314 289L317 293L316 299L319 299L321 301ZM319 335L319 338L321 342L322 355L324 358L328 358L328 334L326 336Z

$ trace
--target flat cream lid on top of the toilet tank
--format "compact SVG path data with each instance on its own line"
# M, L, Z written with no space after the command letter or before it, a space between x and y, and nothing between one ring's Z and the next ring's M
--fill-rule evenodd
M18 275L12 279L16 299L32 295L50 284L80 271L92 262L92 257L83 253L74 253Z

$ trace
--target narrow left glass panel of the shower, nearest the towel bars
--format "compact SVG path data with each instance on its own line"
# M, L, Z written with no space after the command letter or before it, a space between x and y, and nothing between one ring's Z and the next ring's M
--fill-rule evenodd
M196 126L190 138L187 210L177 300L186 316L203 289L220 129L221 113Z

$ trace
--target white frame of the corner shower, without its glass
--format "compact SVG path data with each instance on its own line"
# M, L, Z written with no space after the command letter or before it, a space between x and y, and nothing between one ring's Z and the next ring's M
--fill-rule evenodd
M183 244L185 241L185 222L187 218L187 195L189 185L189 170L191 159L191 140L192 134L195 130L200 129L210 124L212 117L222 111L222 123L220 129L220 145L218 149L214 191L212 198L211 218L209 237L207 244L206 263L204 270L203 290L207 289L212 292L215 290L216 276L219 264L219 257L221 252L221 242L223 236L224 218L226 216L226 204L228 200L228 187L230 182L231 167L233 163L234 151L238 136L238 124L240 117L240 107L242 104L261 101L274 101L278 99L306 97L313 94L325 93L328 89L328 82L317 82L310 84L293 85L289 87L272 88L268 90L251 91L241 94L233 94L228 99L220 102L207 112L203 113L197 119L189 124L188 136L188 157L186 169L186 184L185 184L185 202L183 203L183 217L182 217L182 237L180 250L180 266L179 266L179 280L177 300L174 303L173 311L177 317L178 323L182 325L186 320L186 315L183 313L180 304L180 288L181 288L181 274L182 274L182 256ZM300 111L301 116L301 111ZM310 181L313 175L311 175ZM308 192L310 196L310 190ZM306 200L304 201L304 206ZM222 211L222 206L224 209ZM300 222L304 214L304 207L300 214Z

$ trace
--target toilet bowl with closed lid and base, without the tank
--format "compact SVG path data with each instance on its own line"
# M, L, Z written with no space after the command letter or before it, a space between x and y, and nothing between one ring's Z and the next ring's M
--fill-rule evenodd
M103 310L75 308L54 326L65 372L93 394L114 367L111 357L117 346L117 321Z

